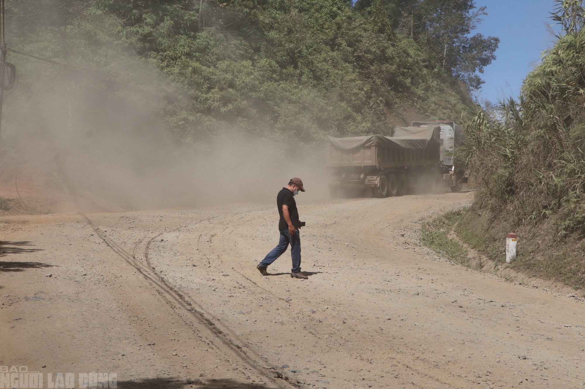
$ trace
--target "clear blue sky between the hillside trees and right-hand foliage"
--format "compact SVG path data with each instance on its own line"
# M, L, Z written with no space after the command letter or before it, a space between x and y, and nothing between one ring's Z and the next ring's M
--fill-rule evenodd
M486 81L479 93L480 99L496 102L508 96L518 96L522 80L536 64L541 52L555 39L547 30L553 0L476 0L476 5L487 6L488 16L474 32L497 36L500 46L497 59L485 68L480 77Z

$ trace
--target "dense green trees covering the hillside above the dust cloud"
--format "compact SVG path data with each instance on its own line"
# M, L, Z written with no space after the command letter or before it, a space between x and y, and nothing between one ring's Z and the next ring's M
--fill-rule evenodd
M499 42L472 35L485 8L471 0L6 6L10 47L108 80L68 79L67 90L156 96L177 139L196 144L227 130L311 147L329 134L385 134L405 112L457 119L473 106L469 92ZM14 57L23 82L64 87L63 71Z

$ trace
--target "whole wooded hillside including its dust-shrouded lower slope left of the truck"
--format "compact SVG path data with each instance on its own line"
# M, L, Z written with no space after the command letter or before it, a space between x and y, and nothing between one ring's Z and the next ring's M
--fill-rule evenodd
M20 174L130 210L323 182L326 136L468 115L498 44L472 34L483 12L471 0L8 0L8 46L76 68L9 55L20 81L5 99L2 193Z

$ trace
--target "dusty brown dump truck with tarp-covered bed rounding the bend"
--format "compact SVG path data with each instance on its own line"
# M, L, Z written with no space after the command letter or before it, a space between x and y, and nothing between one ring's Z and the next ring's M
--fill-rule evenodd
M326 138L326 165L332 169L331 196L366 193L381 198L441 187L457 191L455 171L449 170L453 165L443 164L448 153L441 150L441 144L446 144L441 126L448 124L417 124L394 127L390 137Z

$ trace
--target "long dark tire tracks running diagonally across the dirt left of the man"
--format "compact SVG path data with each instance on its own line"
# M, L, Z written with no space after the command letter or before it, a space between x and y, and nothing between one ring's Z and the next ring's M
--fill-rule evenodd
M88 225L90 225L90 227L92 228L92 230L95 231L98 237L101 238L102 241L104 241L105 244L108 245L109 248L112 249L112 251L118 254L118 256L120 256L126 263L128 263L130 266L133 266L133 268L135 268L137 272L139 272L140 275L142 275L154 287L157 294L159 294L159 296L163 298L164 301L166 301L167 305L172 310L176 311L178 315L184 316L182 312L180 312L180 310L190 312L190 316L191 318L195 319L195 322L204 325L204 327L206 327L208 331L210 331L214 336L216 336L222 342L223 345L227 346L228 349L233 354L235 354L235 356L238 357L238 359L240 359L243 363L261 372L261 375L264 376L266 380L276 385L276 387L283 389L288 387L288 385L283 385L283 383L275 380L273 376L269 374L266 371L266 369L264 369L263 366L261 366L258 360L262 360L263 358L256 352L254 352L254 350L250 348L250 346L242 346L238 344L238 342L235 342L232 338L238 338L238 336L235 336L235 334L229 334L229 332L232 331L230 331L229 329L223 329L219 325L215 324L215 322L213 321L214 319L213 315L205 311L204 308L202 308L201 305L197 304L197 302L194 301L192 298L185 297L183 293L178 291L174 286L170 285L164 279L164 277L156 273L154 267L152 266L152 263L149 260L149 247L154 241L154 239L160 237L165 232L170 231L159 232L159 234L150 238L149 241L146 242L146 245L144 247L144 261L146 262L147 267L145 268L139 261L137 261L135 254L130 254L129 252L126 251L126 249L124 249L122 246L113 241L113 239L108 237L108 235L106 235L105 232L102 232L102 230L99 227L92 223L90 218L85 216L85 214L81 215L85 218ZM215 217L204 218L197 221L195 224L201 223L202 221L208 221L213 218ZM177 228L171 231L176 230ZM144 235L144 238L145 237L146 235ZM152 272L149 270L149 268L152 269ZM197 306L197 308L195 308L194 305ZM217 318L215 319L218 320ZM192 325L192 322L191 324L189 322L187 322L186 324L191 329L193 330L195 329L194 325ZM209 342L214 343L212 339L210 339ZM243 349L244 347L248 348L248 350L247 351L244 350ZM253 356L251 356L250 354L253 354Z

